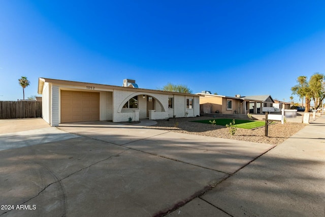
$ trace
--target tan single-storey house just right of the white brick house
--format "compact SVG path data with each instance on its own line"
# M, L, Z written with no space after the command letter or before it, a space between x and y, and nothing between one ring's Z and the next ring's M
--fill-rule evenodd
M200 113L222 113L222 114L262 114L263 101L258 99L250 99L248 97L228 97L222 95L206 94L203 91L196 95L200 96ZM250 111L250 108L252 110Z

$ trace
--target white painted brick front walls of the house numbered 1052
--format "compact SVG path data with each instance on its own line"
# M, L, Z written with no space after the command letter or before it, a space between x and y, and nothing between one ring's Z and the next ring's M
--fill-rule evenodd
M44 83L43 86L43 118L51 126L58 126L60 121L60 88L67 90L84 90L85 87L79 85L57 85ZM83 89L82 89L83 88ZM96 87L97 88L97 87ZM99 88L98 88L99 89ZM114 122L128 121L129 117L133 120L147 117L147 97L151 96L155 99L155 111L151 115L152 118L160 119L166 117L184 117L185 111L188 117L200 114L199 97L185 95L168 95L160 93L149 93L138 91L136 88L125 89L100 89L100 120L113 120ZM143 98L143 95L146 98ZM138 96L138 109L122 109L125 102L134 96ZM168 98L173 97L173 109L168 108ZM193 99L193 108L186 109L186 97Z

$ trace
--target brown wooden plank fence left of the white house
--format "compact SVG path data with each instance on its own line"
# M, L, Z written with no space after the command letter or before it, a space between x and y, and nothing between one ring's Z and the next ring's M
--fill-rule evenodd
M0 101L0 119L42 117L41 101Z

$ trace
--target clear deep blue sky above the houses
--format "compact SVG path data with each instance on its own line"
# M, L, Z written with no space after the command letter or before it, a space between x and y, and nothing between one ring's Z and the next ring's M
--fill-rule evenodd
M0 2L0 100L38 78L289 101L298 76L325 73L325 1ZM294 96L298 101L298 97Z

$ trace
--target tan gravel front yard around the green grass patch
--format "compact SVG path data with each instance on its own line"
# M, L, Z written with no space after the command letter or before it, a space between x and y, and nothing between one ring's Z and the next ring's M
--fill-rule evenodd
M232 136L226 127L190 121L202 119L212 119L212 117L170 118L169 121L156 120L157 125L147 128L258 143L280 144L305 127L302 123L284 123L284 125L281 125L280 122L277 122L269 126L269 137L264 136L265 127L255 130L237 128L236 134Z

